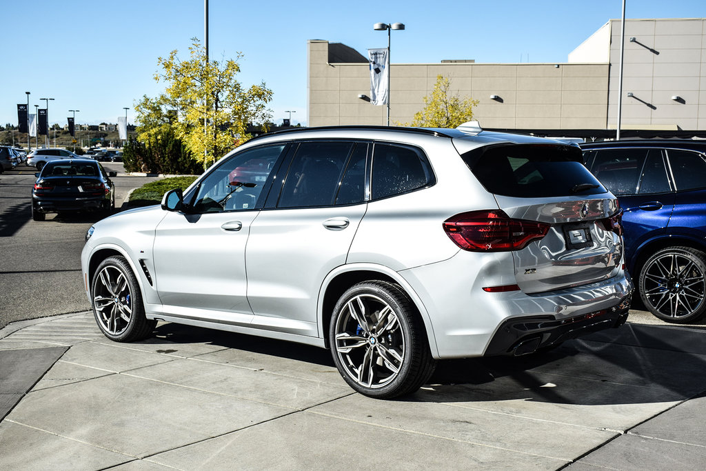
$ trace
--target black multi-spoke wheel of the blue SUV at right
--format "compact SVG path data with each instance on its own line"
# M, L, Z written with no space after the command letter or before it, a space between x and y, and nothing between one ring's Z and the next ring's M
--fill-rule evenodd
M640 298L662 321L690 323L706 313L706 255L690 247L668 247L640 270Z

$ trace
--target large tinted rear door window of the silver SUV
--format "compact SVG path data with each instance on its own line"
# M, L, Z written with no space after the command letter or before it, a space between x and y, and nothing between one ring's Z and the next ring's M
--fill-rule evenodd
M304 142L289 165L277 208L331 205L353 144Z

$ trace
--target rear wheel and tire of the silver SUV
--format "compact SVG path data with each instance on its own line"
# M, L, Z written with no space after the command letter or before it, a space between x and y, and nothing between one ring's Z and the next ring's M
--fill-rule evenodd
M388 282L361 282L347 290L333 309L328 335L343 379L372 398L414 393L436 366L417 310Z

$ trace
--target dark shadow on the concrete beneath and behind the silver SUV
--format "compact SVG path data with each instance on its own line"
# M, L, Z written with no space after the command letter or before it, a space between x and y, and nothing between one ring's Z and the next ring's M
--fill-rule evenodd
M160 340L208 345L334 367L328 350L282 340L163 323ZM449 359L398 400L469 403L522 400L565 405L664 403L706 391L706 328L626 324L542 354Z

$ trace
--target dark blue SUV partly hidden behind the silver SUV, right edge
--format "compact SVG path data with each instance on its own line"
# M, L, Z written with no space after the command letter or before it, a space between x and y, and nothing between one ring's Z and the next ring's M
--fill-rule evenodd
M639 140L581 146L623 208L628 271L654 316L706 314L706 143Z

